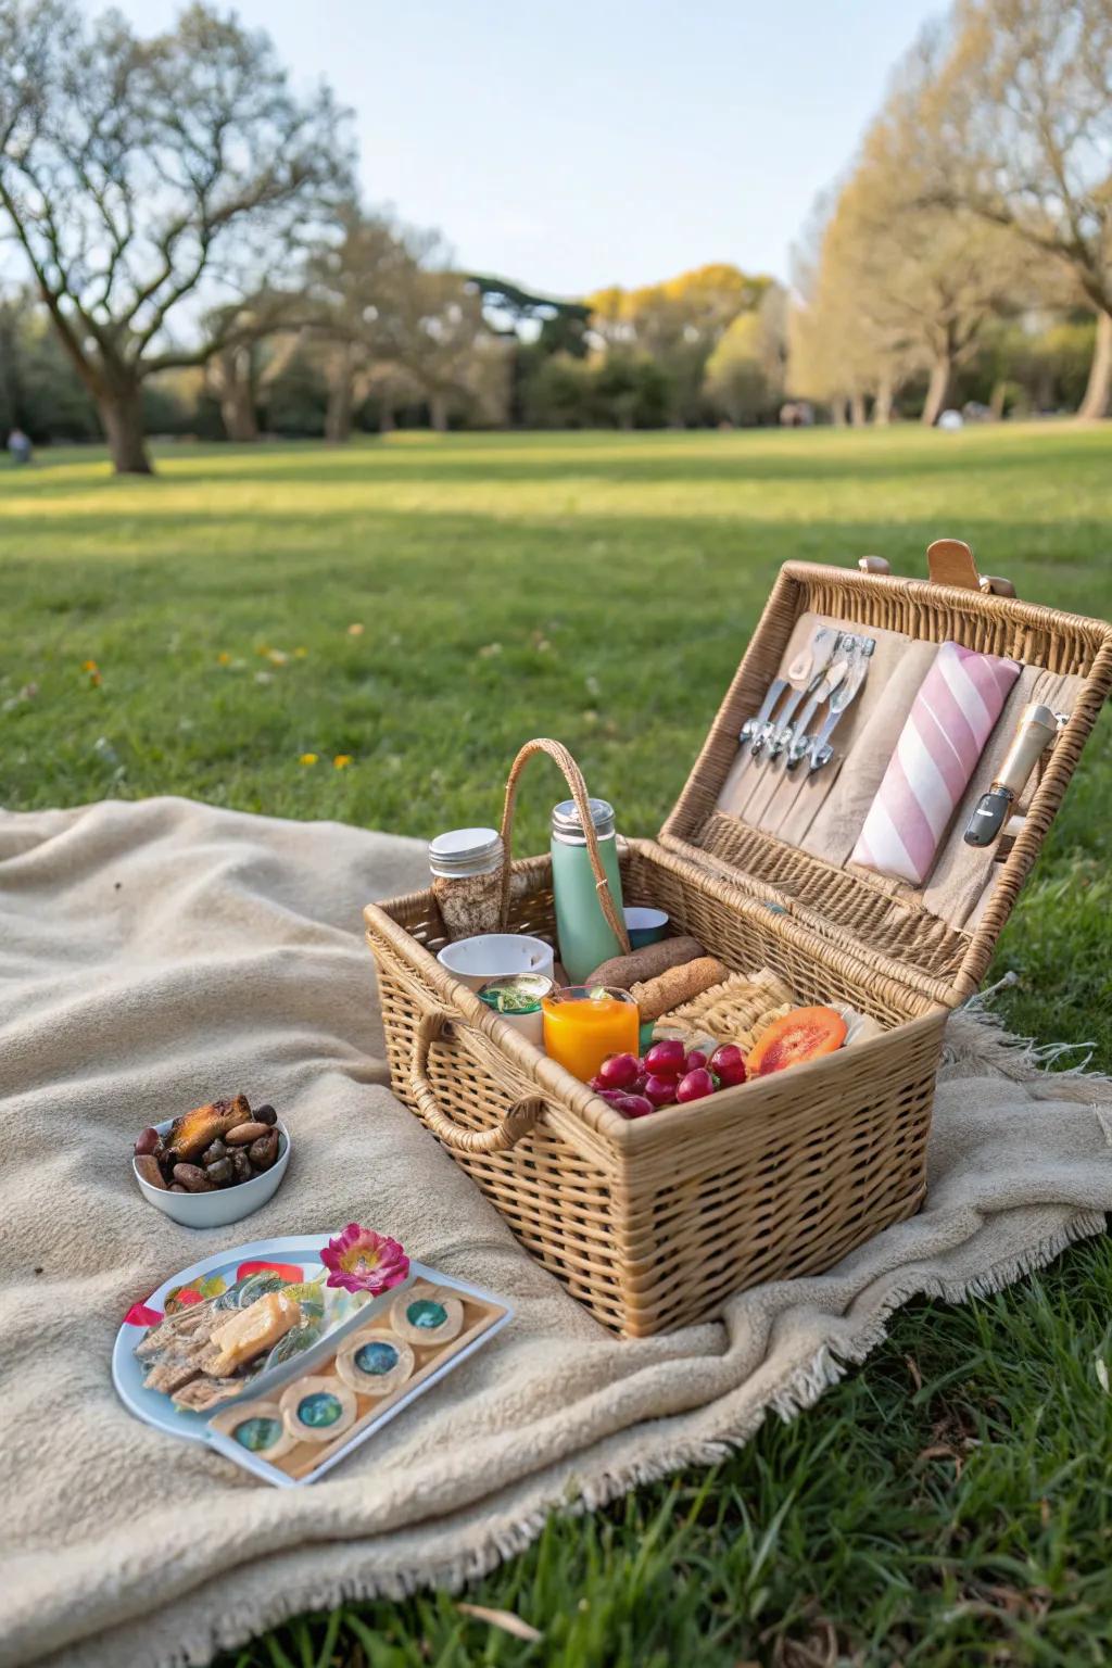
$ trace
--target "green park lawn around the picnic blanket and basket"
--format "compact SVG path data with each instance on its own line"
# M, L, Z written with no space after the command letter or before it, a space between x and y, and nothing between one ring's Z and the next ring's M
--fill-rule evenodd
M627 832L652 832L789 557L922 574L925 544L957 534L1020 595L1112 614L1107 429L398 437L158 462L137 482L73 452L0 475L10 809L175 792L425 834L492 821L512 752L547 732ZM555 789L533 769L522 849ZM995 966L1019 974L1012 1029L1090 1042L1104 1069L1110 819L1102 722ZM714 1476L553 1520L468 1593L543 1643L432 1596L228 1661L1105 1661L1110 1298L1100 1241L992 1301L915 1304L864 1371Z

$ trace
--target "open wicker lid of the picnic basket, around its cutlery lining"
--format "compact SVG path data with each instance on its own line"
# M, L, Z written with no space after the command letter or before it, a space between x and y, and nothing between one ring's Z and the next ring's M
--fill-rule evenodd
M784 564L702 752L660 831L660 844L704 871L719 872L770 909L790 914L817 937L844 947L885 977L955 1006L972 996L985 976L1012 904L1112 689L1112 626L1019 602L1007 580L982 579L972 552L959 540L932 544L927 557L929 580L892 577L880 557L864 557L857 572L809 562ZM739 759L742 724L759 712L784 666L792 634L799 639L804 615L865 636L872 627L914 642L949 641L1007 656L1034 674L1054 674L1060 681L1055 687L1069 692L1069 721L1019 802L1025 816L1007 857L999 859L995 847L975 852L984 861L984 889L975 911L967 902L952 907L945 887L932 889L932 876L917 889L864 871L849 857L835 862L807 849L807 839L794 844L764 832L722 804ZM1014 696L1022 687L1020 674ZM999 749L997 737L1007 744L1014 724L1009 697L982 762ZM850 736L850 747L852 741ZM962 854L962 834L969 806L989 781L979 766L939 846L935 869L944 859L950 866L970 861Z

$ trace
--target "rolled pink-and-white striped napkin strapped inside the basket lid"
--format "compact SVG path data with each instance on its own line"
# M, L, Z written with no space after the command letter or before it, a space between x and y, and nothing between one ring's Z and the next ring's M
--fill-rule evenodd
M922 884L969 787L1017 661L944 642L922 681L850 862ZM985 782L985 789L989 782Z

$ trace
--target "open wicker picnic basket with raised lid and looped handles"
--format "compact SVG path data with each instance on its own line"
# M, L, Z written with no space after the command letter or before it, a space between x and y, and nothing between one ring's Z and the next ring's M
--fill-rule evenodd
M919 1209L947 1014L979 987L1112 686L1112 627L999 594L1010 585L982 580L964 545L932 547L932 582L890 577L875 557L862 567L785 564L660 839L627 841L620 867L627 904L667 909L677 932L730 969L769 967L800 1002L847 1002L884 1034L629 1121L442 967L432 891L365 911L395 1091L517 1238L624 1336L710 1318L759 1281L827 1269ZM759 709L804 610L1080 679L975 929L922 904L894 912L870 881L719 809L739 727ZM503 809L503 921L553 941L550 859L513 862L510 891L517 784L535 752L585 797L562 746L522 749Z

